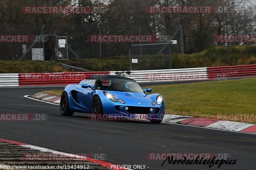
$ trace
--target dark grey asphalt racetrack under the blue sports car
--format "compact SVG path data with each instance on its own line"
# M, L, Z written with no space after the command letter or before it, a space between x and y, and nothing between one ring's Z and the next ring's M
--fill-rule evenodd
M24 95L63 87L1 88L0 113L47 114L46 121L0 121L0 138L68 153L101 153L116 165L145 169L254 169L256 135L148 121L90 121L62 116L58 105ZM227 153L235 165L169 165L150 153ZM133 168L132 168L133 169Z

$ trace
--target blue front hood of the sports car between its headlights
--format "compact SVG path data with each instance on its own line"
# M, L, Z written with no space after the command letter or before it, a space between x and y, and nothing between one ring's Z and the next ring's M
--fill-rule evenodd
M139 92L119 92L119 91L106 91L113 94L117 99L125 102L125 105L138 105L152 106L152 101L156 101L156 96L159 94L145 94Z

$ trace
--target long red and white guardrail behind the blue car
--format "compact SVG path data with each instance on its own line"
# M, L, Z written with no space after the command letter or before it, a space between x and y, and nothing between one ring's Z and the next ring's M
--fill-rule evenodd
M0 86L67 85L98 74L125 76L138 83L224 80L256 77L256 64L170 70L0 74Z

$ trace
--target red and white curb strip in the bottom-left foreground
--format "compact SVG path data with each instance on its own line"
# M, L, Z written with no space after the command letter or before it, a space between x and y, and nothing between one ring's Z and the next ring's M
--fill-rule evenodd
M55 150L51 150L51 149L47 149L47 148L42 148L42 147L39 147L39 146L24 144L24 143L12 141L12 140L6 140L6 139L1 139L0 138L0 141L5 142L5 143L19 145L19 146L30 148L30 149L39 150L41 152L50 152L50 153L60 154L60 155L69 154L69 153L65 153L65 152L59 152L59 151L55 151ZM81 160L86 160L86 161L89 161L89 162L92 162L92 163L96 163L96 164L99 164L100 166L103 166L103 167L106 167L106 168L109 168L109 169L112 169L112 170L117 170L117 168L111 168L111 165L112 165L112 167L114 167L113 166L114 164L111 164L111 163L108 163L108 162L105 162L105 161L102 161L102 160L92 159L92 158L83 157L81 155L75 155L75 154L72 154L72 157L75 157L75 158L81 159ZM126 170L126 169L119 168L118 170ZM129 169L127 169L127 170L129 170Z

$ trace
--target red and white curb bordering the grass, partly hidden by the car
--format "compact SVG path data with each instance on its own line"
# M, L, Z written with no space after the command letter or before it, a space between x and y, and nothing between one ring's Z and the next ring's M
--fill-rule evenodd
M24 97L29 98L28 96L24 96ZM44 94L42 92L36 93L31 97L32 98L30 99L33 99L33 100L39 100L39 101L43 100L44 102L56 104L56 105L60 104L60 97ZM196 117L190 117L190 116L179 116L179 115L170 115L170 114L164 115L163 122L256 134L256 125L249 124L249 123L221 121L221 120L215 120L215 119L205 119L205 118L196 118Z

